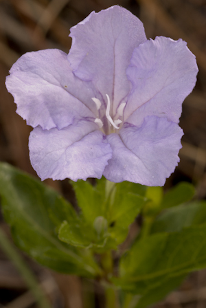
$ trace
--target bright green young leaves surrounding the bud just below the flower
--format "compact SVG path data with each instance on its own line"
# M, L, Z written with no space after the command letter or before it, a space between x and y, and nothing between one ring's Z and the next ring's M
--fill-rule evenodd
M63 223L60 228L60 239L66 243L90 247L100 252L117 249L128 234L128 227L148 199L145 196L146 186L124 181L111 183L104 179L97 180L92 186L88 181L71 183L82 210L80 225ZM97 217L103 217L108 223L108 230L99 238L93 225ZM67 233L69 232L69 233ZM68 234L73 234L70 236ZM87 234L87 238L85 236ZM105 246L104 246L105 245Z

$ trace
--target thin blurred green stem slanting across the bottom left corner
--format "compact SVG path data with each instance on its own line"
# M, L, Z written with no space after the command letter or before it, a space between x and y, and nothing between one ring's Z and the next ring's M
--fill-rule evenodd
M16 249L13 247L12 243L7 239L4 232L0 228L0 245L2 250L7 254L9 259L14 263L16 269L19 270L21 276L27 283L27 286L30 288L30 291L34 294L36 302L41 308L50 308L49 301L43 294L41 287L38 285L35 276L32 274L30 269L25 265L25 261L21 258L20 254L16 252Z

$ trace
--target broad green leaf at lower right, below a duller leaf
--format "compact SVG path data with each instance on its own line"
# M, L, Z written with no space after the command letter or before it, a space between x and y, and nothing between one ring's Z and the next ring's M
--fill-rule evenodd
M181 232L153 234L134 243L120 261L120 278L115 284L138 294L137 307L144 308L170 292L188 272L205 266L206 225L192 226ZM150 303L146 297L151 298Z

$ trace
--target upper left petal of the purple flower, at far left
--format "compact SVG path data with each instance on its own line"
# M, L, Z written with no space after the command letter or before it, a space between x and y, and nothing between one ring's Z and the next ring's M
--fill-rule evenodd
M73 75L67 54L60 50L21 56L10 70L6 87L14 96L16 112L33 127L62 129L76 117L96 118L91 83Z

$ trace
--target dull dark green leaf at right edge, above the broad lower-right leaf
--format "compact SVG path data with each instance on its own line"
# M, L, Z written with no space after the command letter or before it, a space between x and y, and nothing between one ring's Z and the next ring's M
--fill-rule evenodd
M168 208L155 220L151 233L176 232L190 225L200 225L206 221L206 201L194 201L175 208Z

